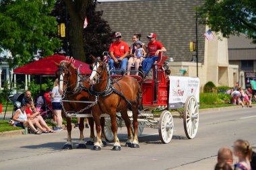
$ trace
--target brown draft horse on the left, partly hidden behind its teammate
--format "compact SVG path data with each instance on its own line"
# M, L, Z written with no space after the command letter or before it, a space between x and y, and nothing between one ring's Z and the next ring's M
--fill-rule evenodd
M63 101L63 110L65 114L90 114L91 108L85 109L91 103L79 103L79 102L71 102L71 101L89 101L89 98L93 98L95 101L95 97L91 96L88 93L88 89L90 84L86 81L83 81L83 77L79 74L79 69L75 69L71 62L67 60L61 61L59 64L55 62L55 65L59 67L56 72L56 75L59 79L59 91L63 93L65 96L64 99L69 101ZM63 149L71 149L72 142L71 142L71 118L67 117L67 142L63 146ZM88 142L84 142L84 118L80 118L79 122L79 130L80 130L80 137L79 137L79 144L77 148L86 148L86 145L93 145L94 144L94 120L93 118L88 118L90 124L90 140ZM100 120L101 126L104 128L104 118ZM102 132L102 140L104 141L103 144L106 145L106 140L104 137L104 131Z

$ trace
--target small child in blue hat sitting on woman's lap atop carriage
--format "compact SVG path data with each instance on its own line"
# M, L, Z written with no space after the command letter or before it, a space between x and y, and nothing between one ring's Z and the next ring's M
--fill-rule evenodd
M146 52L142 48L143 44L141 41L135 42L135 46L136 46L135 52L133 56L131 56L133 58L133 64L131 65L131 67L135 67L135 63L136 63L135 71L136 71L136 75L139 75L139 72L138 72L139 67L137 66L137 63L141 66L141 62L143 58L146 57ZM128 67L127 75L130 75L131 67Z

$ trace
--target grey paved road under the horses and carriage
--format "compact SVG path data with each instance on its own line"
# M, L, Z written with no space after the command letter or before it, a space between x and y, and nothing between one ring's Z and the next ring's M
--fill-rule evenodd
M139 138L140 148L122 147L110 151L73 149L63 151L67 132L56 134L12 135L0 138L0 169L214 169L216 153L221 146L232 146L237 138L249 140L256 147L255 108L208 110L201 113L196 138L185 137L182 120L174 119L174 136L162 144L158 130L146 128ZM86 129L86 137L88 137ZM79 131L73 130L73 145ZM119 139L125 144L126 128L119 128ZM87 139L87 138L86 138Z

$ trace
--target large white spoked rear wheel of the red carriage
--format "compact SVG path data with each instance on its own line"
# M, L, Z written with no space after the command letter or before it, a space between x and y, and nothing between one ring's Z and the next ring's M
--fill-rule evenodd
M199 108L197 99L189 96L186 100L183 113L183 124L187 138L195 138L199 125Z

